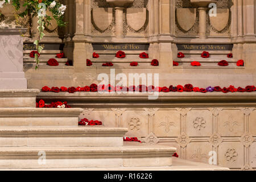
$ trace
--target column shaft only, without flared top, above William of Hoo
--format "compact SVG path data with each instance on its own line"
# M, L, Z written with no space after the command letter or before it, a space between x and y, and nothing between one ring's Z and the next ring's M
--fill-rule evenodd
M123 7L115 7L115 35L123 38Z

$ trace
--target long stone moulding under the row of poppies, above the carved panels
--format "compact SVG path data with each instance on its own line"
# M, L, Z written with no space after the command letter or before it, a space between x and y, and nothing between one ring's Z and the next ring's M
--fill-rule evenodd
M148 94L43 93L38 99L46 102L65 100L71 107L180 107L180 106L255 106L256 93L159 93L157 100Z

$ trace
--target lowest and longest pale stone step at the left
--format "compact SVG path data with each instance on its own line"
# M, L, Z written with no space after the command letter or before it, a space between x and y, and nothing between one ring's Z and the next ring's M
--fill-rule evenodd
M175 151L174 147L141 143L121 147L0 147L0 168L172 166Z

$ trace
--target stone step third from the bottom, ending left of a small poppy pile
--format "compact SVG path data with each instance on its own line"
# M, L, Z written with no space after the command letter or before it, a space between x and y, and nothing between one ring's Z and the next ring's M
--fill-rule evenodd
M0 126L77 126L80 108L0 108Z

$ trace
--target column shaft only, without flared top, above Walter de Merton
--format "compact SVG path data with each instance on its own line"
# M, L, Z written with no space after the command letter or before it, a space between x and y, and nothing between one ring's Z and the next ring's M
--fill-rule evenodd
M199 7L199 37L200 39L206 39L207 31L207 7Z

